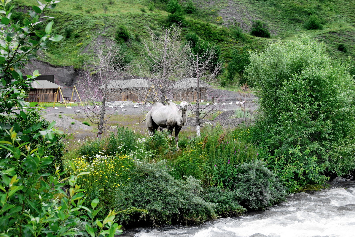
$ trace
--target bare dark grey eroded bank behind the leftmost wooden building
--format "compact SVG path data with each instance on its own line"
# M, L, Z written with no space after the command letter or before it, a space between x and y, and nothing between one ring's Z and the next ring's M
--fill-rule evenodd
M34 70L38 70L42 75L54 75L54 83L61 86L75 85L80 74L80 70L74 69L72 66L55 67L39 60L31 60L27 63L22 73L24 75L32 74Z

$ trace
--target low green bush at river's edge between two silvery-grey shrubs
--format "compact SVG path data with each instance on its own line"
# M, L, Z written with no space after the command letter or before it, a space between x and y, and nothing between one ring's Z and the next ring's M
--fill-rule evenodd
M203 199L206 202L216 205L216 213L224 218L229 216L240 216L246 211L239 205L241 195L238 190L229 190L220 187L209 186L204 189Z

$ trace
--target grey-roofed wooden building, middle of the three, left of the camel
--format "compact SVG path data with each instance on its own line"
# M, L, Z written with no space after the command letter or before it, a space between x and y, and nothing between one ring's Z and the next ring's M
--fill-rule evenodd
M107 101L142 101L152 83L140 77L131 78L133 79L110 81L107 87L109 89ZM104 86L100 86L99 89L104 89Z

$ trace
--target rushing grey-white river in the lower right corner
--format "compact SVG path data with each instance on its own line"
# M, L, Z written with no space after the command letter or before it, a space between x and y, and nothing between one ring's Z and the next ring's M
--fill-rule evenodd
M355 182L332 182L331 188L295 193L266 211L223 218L200 226L137 228L131 237L353 237Z

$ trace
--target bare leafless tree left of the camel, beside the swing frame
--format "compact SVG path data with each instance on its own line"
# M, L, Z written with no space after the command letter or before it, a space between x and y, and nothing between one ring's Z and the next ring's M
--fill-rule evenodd
M121 79L130 65L123 63L125 55L113 41L101 43L94 40L92 47L96 57L91 63L86 63L77 87L85 101L80 114L97 124L97 137L101 139L105 123L117 108L111 109L107 104L109 99L115 98L120 92L119 87L122 85L116 85L115 80Z

